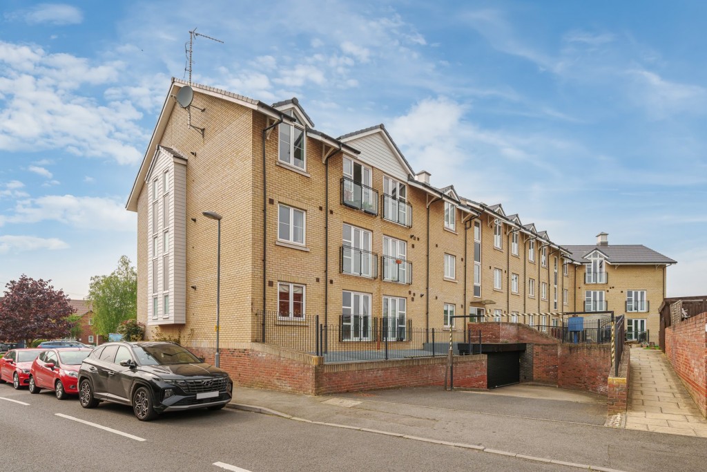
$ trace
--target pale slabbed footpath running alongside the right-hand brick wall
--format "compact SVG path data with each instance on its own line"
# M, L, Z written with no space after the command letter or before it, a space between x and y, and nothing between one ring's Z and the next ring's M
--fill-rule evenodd
M660 350L631 349L626 429L707 437L703 418Z

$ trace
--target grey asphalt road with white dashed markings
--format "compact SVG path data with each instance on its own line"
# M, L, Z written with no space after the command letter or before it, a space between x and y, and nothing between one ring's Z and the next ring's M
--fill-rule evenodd
M58 401L52 392L31 395L8 385L0 385L0 437L3 471L566 470L240 410L139 422L124 406L85 410L73 398Z

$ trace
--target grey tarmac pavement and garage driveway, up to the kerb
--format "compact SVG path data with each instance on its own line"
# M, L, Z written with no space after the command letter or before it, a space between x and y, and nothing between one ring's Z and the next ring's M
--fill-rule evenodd
M411 387L335 396L235 387L229 407L319 427L561 464L568 470L703 472L707 461L706 439L661 439L666 435L604 427L606 398L553 386L520 384L493 391ZM641 454L627 453L639 450Z

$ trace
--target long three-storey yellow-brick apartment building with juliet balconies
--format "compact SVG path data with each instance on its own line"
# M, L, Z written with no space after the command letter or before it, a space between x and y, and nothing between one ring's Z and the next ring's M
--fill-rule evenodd
M460 315L553 326L583 311L595 253L430 177L383 125L334 138L294 98L266 104L173 79L127 202L138 214L139 321L149 336L214 349L217 227L225 349L258 339L257 313L274 313L293 337L318 316L340 328L339 343L366 343L380 326L404 341L410 328L461 330ZM203 212L220 215L218 226ZM648 287L648 270L624 276L648 265L606 252L605 266L621 271L612 283L659 296L674 261Z

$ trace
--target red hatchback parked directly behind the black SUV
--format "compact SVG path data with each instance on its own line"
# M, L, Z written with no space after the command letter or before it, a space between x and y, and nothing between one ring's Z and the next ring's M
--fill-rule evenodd
M78 395L78 367L92 349L69 347L47 349L30 367L30 393L40 393L42 388L53 390L59 400L69 394Z

